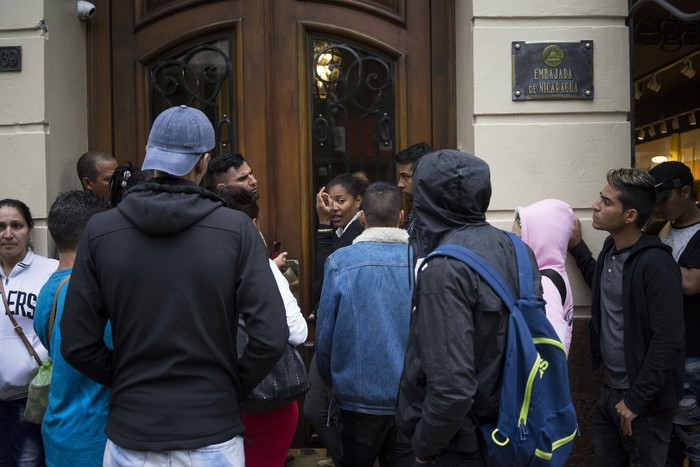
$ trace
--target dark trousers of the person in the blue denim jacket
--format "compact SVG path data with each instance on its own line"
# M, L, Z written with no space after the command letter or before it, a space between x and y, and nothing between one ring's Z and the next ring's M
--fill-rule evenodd
M341 410L338 467L413 467L409 440L396 428L394 415L370 415Z

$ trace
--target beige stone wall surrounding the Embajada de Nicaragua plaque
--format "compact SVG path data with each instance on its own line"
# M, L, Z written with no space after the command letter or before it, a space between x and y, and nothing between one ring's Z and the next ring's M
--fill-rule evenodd
M574 208L598 251L591 204L612 167L631 160L629 30L623 0L457 0L458 147L491 166L489 221L510 229L514 209L545 198ZM592 40L595 98L513 102L511 43ZM576 304L589 304L575 264Z

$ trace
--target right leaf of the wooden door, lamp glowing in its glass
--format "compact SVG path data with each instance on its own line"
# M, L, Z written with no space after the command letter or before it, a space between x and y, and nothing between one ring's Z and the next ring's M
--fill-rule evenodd
M452 135L433 130L441 117L432 107L431 15L445 15L445 28L451 2L433 3L273 2L271 156L277 176L270 188L278 210L272 214L280 238L301 233L295 253L302 265L312 264L314 196L327 181L360 170L370 181L394 181L396 151L419 141L454 144ZM450 108L448 95L440 99ZM444 123L447 133L453 123ZM298 215L292 222L289 212ZM302 269L308 284L313 271ZM307 306L313 305L309 292Z

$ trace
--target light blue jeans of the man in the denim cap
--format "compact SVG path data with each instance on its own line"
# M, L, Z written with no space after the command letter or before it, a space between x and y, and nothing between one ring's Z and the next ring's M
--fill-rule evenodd
M103 464L106 467L142 467L160 466L212 466L245 467L243 437L236 436L219 444L212 444L197 449L180 449L172 451L132 451L117 446L107 439Z

